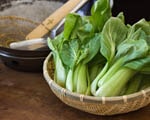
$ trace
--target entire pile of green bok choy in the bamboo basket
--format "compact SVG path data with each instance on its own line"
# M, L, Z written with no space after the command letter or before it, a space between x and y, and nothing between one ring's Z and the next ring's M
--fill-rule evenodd
M97 0L90 16L66 17L53 40L54 80L85 95L119 96L150 87L150 23L125 24L113 17L109 0Z

